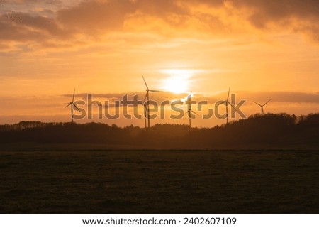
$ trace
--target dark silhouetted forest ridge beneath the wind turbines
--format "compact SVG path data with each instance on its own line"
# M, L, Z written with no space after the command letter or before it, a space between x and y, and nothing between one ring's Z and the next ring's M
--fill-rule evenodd
M145 129L40 121L0 125L0 148L23 143L96 144L110 149L319 149L319 114L255 114L222 126L191 129L177 124Z

